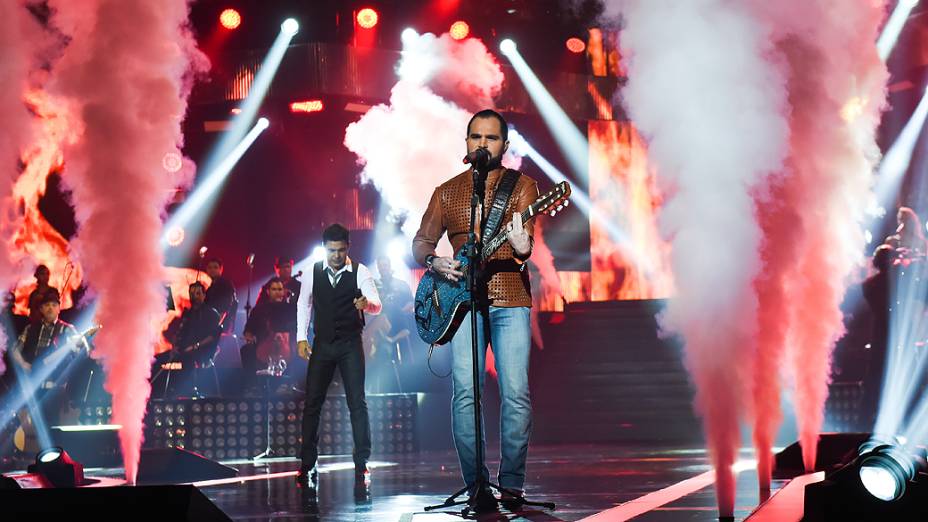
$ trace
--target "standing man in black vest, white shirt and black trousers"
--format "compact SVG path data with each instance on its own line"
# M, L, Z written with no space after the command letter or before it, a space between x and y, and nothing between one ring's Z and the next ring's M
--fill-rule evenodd
M338 368L351 414L356 491L366 493L370 486L367 459L371 456L371 428L364 397L361 329L364 312L380 313L380 296L370 270L348 259L348 229L337 223L331 225L323 231L322 242L325 261L316 263L309 277L303 279L297 303L297 349L300 356L309 359L303 407L302 465L297 485L308 494L316 492L319 416ZM311 310L314 312L315 348L311 348L307 340Z

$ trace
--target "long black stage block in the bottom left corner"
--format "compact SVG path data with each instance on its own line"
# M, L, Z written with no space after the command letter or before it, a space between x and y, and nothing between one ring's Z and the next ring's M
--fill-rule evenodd
M3 520L232 520L189 485L0 490Z

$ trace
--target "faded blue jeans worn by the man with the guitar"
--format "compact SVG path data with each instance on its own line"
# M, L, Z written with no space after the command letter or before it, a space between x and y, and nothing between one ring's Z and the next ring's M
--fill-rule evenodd
M528 358L532 345L529 308L502 308L491 306L489 312L477 315L477 353L480 364L480 391L483 396L487 340L493 349L496 371L499 375L500 408L500 466L499 485L510 489L523 489L525 460L528 456L528 439L532 431L532 405L528 393ZM489 321L487 321L489 315ZM489 334L489 336L487 335ZM474 432L474 379L471 352L470 315L461 323L451 339L452 384L451 400L454 446L461 462L464 483L472 488L476 482L476 441ZM481 425L483 420L481 419ZM486 436L483 437L486 441ZM486 444L483 454L486 456ZM490 472L483 466L483 478Z

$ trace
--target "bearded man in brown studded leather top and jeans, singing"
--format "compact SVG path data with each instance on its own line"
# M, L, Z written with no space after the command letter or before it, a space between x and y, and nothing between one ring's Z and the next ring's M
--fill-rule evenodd
M536 201L538 185L532 178L502 166L502 156L509 146L508 125L497 112L483 110L474 114L468 124L465 141L468 154L465 162L478 168L478 180L485 183L485 197L478 207L477 230L486 241L497 236L497 232L508 230L504 232L506 243L482 267L482 275L478 279L482 295L474 296L479 311L480 386L483 385L488 342L492 346L499 375L502 400L499 485L519 494L504 495L501 500L508 506L520 500L525 486L525 462L532 426L528 389L532 296L525 270L525 261L532 254L532 224L523 224L522 215L516 211ZM435 248L446 232L456 252L464 245L470 227L473 186L469 169L439 185L413 239L416 261L450 281L464 279L462 263L453 257L437 257ZM464 320L465 324L468 321L469 318ZM441 341L436 344L441 344ZM464 482L473 490L477 482L477 450L470 328L457 330L451 338L451 353L454 443ZM486 466L483 466L483 474L484 479L489 480ZM476 495L478 510L495 509L496 499L488 488L481 488Z

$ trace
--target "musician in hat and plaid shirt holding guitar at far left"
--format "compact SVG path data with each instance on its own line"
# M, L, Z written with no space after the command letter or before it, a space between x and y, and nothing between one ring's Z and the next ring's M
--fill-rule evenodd
M29 375L38 375L42 367L52 367L65 356L88 348L74 326L58 317L61 299L57 290L46 290L37 309L38 322L26 326L11 350L13 361ZM54 379L52 375L42 378Z

